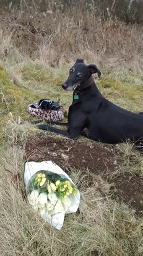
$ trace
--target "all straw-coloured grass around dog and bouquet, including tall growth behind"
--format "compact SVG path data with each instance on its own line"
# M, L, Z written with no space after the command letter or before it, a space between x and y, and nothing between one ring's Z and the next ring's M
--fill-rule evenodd
M82 194L80 213L68 214L61 231L43 222L25 199L24 146L27 136L36 136L38 130L19 126L19 118L32 119L27 105L45 96L60 98L68 109L72 92L63 91L61 83L77 57L100 68L102 78L96 81L106 98L134 112L143 108L141 25L102 21L92 11L85 16L83 8L48 11L1 11L0 255L141 256L142 217L111 199L111 185L100 175L88 173L91 186L86 175L72 170ZM129 144L119 145L119 150L124 153L119 171L142 176L142 155ZM17 173L20 183L15 182Z

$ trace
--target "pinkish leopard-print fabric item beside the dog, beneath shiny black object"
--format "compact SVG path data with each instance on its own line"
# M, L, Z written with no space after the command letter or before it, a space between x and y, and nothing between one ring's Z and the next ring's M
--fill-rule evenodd
M29 104L27 107L27 111L34 117L38 117L39 119L58 122L64 119L64 108L62 106L59 107L58 110L46 110L43 111L40 107L34 108Z

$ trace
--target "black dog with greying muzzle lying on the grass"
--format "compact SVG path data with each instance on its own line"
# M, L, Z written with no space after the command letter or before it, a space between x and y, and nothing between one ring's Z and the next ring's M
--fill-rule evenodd
M101 72L95 65L85 65L77 59L63 83L65 90L73 89L73 101L69 107L68 129L60 130L48 124L39 129L77 139L79 135L100 142L115 144L143 137L143 116L127 111L105 99L93 80L92 74Z

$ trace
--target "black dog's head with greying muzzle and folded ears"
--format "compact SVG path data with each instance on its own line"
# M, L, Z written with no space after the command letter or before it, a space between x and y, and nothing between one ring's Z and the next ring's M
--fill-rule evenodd
M69 70L69 77L63 83L62 87L66 90L76 89L78 86L89 80L93 73L97 73L98 77L101 76L100 70L96 65L85 65L84 60L77 58L76 63Z

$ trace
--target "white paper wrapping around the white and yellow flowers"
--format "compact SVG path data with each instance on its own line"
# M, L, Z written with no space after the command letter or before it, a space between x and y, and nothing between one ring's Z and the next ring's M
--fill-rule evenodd
M28 194L28 181L30 178L32 178L37 171L51 171L53 173L57 173L58 175L61 175L63 178L67 178L67 180L71 181L71 183L74 184L74 182L69 178L67 173L65 173L56 163L53 163L51 161L43 161L43 162L27 162L25 163L25 171L24 171L24 182L25 182L25 189L26 193ZM43 219L45 221L48 221L51 223L52 226L56 227L56 229L61 229L64 222L64 215L67 213L76 213L77 209L79 208L79 202L80 202L80 193L79 190L77 190L76 196L73 194L70 195L70 198L72 200L71 206L67 209L67 211L63 213L55 214L54 216L50 217L46 214L43 214Z

